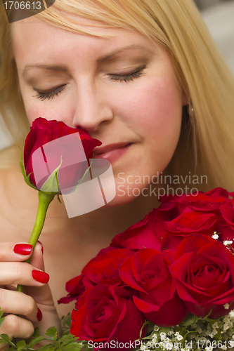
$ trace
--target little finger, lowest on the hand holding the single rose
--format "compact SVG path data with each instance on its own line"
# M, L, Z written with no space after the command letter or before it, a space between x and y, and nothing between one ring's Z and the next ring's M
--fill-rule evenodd
M28 339L34 333L34 326L27 319L15 316L15 314L8 314L0 327L0 333L8 334L11 340L12 338Z

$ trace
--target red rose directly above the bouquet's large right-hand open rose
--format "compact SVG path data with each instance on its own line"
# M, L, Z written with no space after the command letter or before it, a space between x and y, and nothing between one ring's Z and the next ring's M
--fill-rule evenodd
M176 250L178 244L190 234L205 234L212 237L216 226L216 216L212 213L190 211L165 222L165 234L162 239L162 250Z

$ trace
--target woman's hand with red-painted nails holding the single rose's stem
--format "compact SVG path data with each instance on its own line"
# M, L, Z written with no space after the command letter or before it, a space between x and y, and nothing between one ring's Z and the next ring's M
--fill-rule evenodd
M42 246L37 243L33 254L16 253L22 252L20 249L18 243L0 244L0 307L6 314L0 333L7 333L11 340L30 338L36 326L40 335L50 326L60 333L60 319L46 284L49 277L44 273ZM30 256L30 263L23 262ZM16 291L16 284L24 285L23 293ZM8 345L0 344L0 350L7 349Z

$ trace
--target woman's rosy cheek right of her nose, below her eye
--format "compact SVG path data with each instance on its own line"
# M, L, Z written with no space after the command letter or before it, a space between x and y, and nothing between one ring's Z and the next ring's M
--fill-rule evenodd
M124 110L137 133L164 140L180 131L181 91L170 75L152 79L131 93Z

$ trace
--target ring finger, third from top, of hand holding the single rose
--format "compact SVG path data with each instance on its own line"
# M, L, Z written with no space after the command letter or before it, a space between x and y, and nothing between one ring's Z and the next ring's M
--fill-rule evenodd
M42 318L34 299L20 291L0 289L0 306L4 313L21 314L32 322L40 322Z

